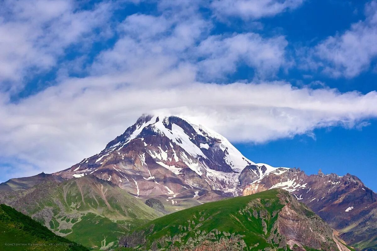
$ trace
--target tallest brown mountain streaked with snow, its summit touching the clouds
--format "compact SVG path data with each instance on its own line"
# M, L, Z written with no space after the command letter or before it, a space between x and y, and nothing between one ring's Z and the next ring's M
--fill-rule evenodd
M218 133L176 116L142 116L99 154L55 173L93 174L136 197L193 198L202 191L238 195L238 176L255 164Z

